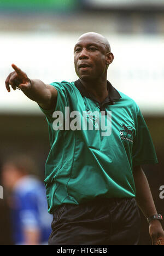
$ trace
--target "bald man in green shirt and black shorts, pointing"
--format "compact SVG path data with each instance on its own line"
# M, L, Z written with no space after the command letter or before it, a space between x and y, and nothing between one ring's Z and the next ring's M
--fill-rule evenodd
M138 207L153 245L161 244L157 214L140 165L156 164L137 104L107 80L114 56L106 38L85 33L74 46L75 82L44 84L14 64L5 85L39 104L49 125L45 166L49 245L138 245Z

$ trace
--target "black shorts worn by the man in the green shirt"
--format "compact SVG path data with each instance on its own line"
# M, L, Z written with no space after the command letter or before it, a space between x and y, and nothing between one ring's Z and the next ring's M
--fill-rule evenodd
M139 233L135 199L99 199L58 207L49 245L138 245Z

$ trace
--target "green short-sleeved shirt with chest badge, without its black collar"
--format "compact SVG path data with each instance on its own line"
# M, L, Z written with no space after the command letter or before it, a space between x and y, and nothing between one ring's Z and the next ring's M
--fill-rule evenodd
M44 181L49 213L62 203L135 197L132 168L157 163L137 104L109 82L109 96L102 104L89 95L80 80L51 85L58 92L56 107L40 108L48 121L51 146ZM106 126L101 126L101 118Z

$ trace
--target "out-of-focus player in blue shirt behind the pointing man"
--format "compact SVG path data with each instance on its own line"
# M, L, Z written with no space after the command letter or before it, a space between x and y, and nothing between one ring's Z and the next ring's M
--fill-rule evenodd
M14 156L2 166L15 245L48 244L52 218L48 213L44 184L34 172L36 166L26 155Z

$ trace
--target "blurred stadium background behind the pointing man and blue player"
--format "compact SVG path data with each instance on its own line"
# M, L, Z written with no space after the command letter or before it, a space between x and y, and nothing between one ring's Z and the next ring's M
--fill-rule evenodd
M11 63L45 83L72 82L77 80L74 44L91 31L109 40L115 59L108 79L138 103L153 137L159 164L143 169L157 211L164 216L164 199L159 196L164 185L163 0L0 0L0 162L13 153L26 153L43 181L50 149L48 126L37 104L19 90L5 90ZM11 244L5 196L0 208L0 244ZM141 217L140 245L150 245L147 220L142 213Z

